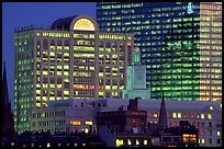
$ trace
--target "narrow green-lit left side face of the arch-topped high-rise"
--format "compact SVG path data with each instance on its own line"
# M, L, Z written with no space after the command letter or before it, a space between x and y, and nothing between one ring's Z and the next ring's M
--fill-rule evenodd
M14 124L15 130L31 127L31 110L34 101L33 32L14 35Z

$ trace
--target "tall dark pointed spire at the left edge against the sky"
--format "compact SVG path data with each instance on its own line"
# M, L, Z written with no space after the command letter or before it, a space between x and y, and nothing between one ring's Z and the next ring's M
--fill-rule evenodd
M7 144L9 145L12 141L14 141L15 134L14 134L13 115L11 113L11 104L9 102L5 62L4 62L3 80L2 80L1 107L2 107L2 141L4 145Z

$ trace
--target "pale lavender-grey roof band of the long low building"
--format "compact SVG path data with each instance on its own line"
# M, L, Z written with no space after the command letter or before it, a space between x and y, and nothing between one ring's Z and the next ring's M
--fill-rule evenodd
M81 103L83 103L83 106L92 105L96 103L96 106L98 106L98 103L101 103L101 105L104 105L105 107L121 107L122 105L124 107L127 107L130 100L128 99L68 99L68 100L58 100L58 101L49 101L48 106L54 107L55 104L64 104L68 103L69 106L81 106ZM153 99L144 99L138 100L138 107L139 108L160 108L160 100L153 100ZM213 110L221 110L220 102L205 102L205 101L165 101L166 108L177 108L177 110L210 110L210 106L212 106Z

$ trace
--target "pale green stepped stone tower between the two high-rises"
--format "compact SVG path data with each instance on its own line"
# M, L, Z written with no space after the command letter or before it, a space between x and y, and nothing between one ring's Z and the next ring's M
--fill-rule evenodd
M150 99L150 90L146 87L146 67L141 64L139 48L135 48L132 56L132 64L127 66L127 84L123 90L123 99Z

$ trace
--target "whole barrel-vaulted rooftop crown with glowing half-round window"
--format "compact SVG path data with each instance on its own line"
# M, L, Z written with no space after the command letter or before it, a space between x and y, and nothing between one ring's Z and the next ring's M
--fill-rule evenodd
M75 15L56 20L51 28L99 31L97 21L89 15Z

